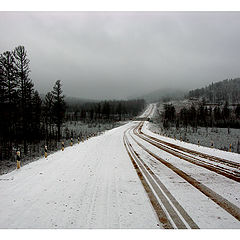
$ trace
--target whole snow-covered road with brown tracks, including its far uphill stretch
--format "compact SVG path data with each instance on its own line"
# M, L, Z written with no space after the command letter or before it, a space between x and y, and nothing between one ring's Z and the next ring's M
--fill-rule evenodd
M139 127L130 122L1 175L0 228L240 228L239 181L154 146ZM238 154L159 136L147 123L142 131L239 163Z

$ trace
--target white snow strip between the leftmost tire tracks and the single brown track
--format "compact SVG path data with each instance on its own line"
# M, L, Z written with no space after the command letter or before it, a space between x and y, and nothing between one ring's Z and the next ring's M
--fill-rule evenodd
M131 141L131 144L134 144L134 142ZM174 174L169 168L159 164L151 156L142 152L139 147L134 145L134 148L138 149L137 152L140 153L140 156L146 159L151 170L156 173L162 183L200 228L240 228L239 221L221 209L211 199L207 198L180 176ZM163 155L161 157L164 158Z

